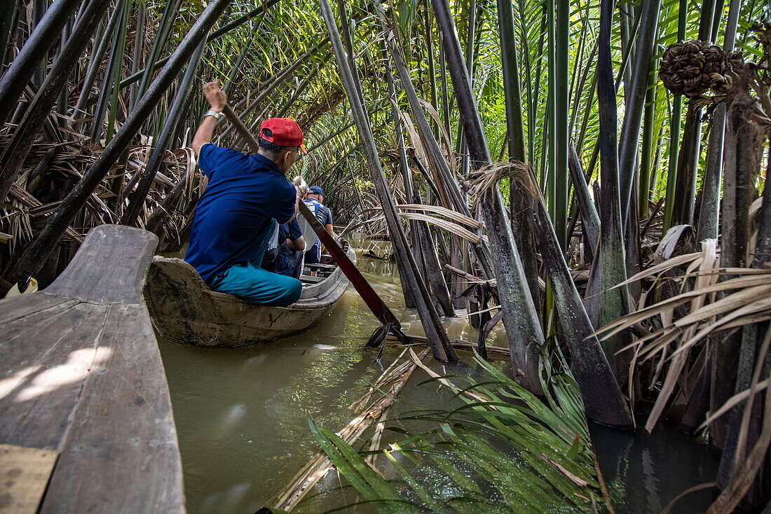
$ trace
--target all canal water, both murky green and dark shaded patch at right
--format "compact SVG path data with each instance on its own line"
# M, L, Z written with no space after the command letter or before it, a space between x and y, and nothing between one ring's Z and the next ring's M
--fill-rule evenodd
M359 268L412 334L423 330L404 307L395 265L359 259ZM459 313L460 314L460 313ZM465 318L444 321L450 338L476 340ZM348 408L399 351L387 348L382 365L362 348L378 327L358 294L348 288L332 314L295 337L242 350L205 350L159 341L180 442L187 508L191 514L250 513L286 485L318 445L308 415L333 430L354 414ZM503 331L488 344L505 344ZM464 354L470 361L470 354ZM503 364L501 364L503 366ZM448 375L473 366L434 366ZM400 395L404 405L444 408L449 395L422 385L416 372ZM714 479L716 461L692 438L666 428L653 435L592 427L604 478L617 512L660 512L680 492ZM295 512L324 512L353 499L335 472ZM348 495L351 498L346 499ZM672 512L699 512L709 495L693 496ZM374 512L358 506L346 512Z

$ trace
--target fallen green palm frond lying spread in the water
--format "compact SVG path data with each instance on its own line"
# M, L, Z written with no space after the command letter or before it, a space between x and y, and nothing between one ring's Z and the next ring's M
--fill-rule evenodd
M412 363L431 377L427 382L453 391L460 407L402 414L395 431L406 438L376 452L370 445L369 452L359 453L310 422L364 503L379 512L612 512L569 372L542 363L546 400L541 401L479 356L476 363L487 381L440 376L409 352ZM457 379L468 384L457 385ZM436 428L414 433L412 422ZM369 465L373 455L384 457L382 465Z

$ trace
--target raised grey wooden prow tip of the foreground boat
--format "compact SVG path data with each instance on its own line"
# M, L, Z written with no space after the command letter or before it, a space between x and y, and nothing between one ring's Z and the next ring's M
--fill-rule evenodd
M140 304L157 244L157 236L146 230L96 227L45 292L96 304Z

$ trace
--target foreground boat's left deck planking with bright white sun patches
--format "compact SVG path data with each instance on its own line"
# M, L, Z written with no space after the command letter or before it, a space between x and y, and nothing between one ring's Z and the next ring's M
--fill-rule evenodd
M86 376L105 358L96 348L108 309L76 305L32 338L3 347L9 355L14 350L24 354L31 363L4 369L8 391L0 399L0 442L62 448ZM70 331L62 332L64 322L71 323ZM29 351L25 352L25 344Z

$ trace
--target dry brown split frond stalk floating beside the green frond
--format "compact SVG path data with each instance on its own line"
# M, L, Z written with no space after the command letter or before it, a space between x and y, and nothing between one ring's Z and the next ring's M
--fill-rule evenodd
M420 352L419 358L426 358L428 353L429 349L426 348ZM399 358L403 354L404 352L399 355ZM355 412L361 412L361 414L356 416L348 425L345 425L345 428L342 428L335 437L350 445L358 440L372 423L382 419L382 415L393 405L394 401L396 401L396 396L399 395L409 377L412 376L412 371L415 371L417 368L416 364L409 359L396 365L399 358L380 375L375 384L372 385L372 388L359 401L351 405ZM379 395L374 401L369 403L375 392L379 393ZM369 407L363 408L367 403L369 403ZM308 494L308 491L311 490L316 482L324 478L327 472L332 469L332 465L332 461L330 461L325 452L318 452L295 475L295 478L291 480L289 485L282 489L269 503L274 505L276 509L283 509L287 512L291 511Z

